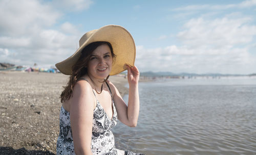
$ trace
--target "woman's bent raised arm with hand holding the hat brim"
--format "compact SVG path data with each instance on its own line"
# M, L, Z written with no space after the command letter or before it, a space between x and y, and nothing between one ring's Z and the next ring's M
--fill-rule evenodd
M139 70L136 66L128 67L127 80L129 83L129 100L128 106L125 105L119 91L114 87L113 99L115 102L115 106L117 109L118 119L131 127L135 127L137 125L138 117L139 117Z

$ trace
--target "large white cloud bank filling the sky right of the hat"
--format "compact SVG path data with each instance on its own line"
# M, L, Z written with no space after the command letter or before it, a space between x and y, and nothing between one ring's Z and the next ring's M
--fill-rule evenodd
M160 49L155 60L162 59L161 64L154 63L152 59L148 60L152 61L149 63L150 66L168 66L169 64L169 71L174 72L180 72L180 70L197 73L255 72L254 15L246 16L242 10L224 14L227 9L250 9L255 6L256 0L252 0L239 4L190 5L174 9L177 14L173 17L187 19L192 14L194 17L186 20L181 31L177 33L181 45ZM195 16L197 14L198 17ZM142 53L145 51L147 54L151 50L143 49ZM172 57L172 60L164 61L161 55ZM146 59L146 57L140 57L140 59ZM142 68L146 70L150 67L144 65ZM162 68L159 67L159 70Z

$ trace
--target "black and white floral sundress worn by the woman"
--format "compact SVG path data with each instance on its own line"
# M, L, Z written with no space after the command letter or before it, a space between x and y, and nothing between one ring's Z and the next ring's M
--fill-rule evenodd
M109 87L108 83L106 83L106 85ZM113 118L109 118L109 116L106 115L104 109L101 107L99 101L97 100L96 108L94 109L93 114L93 128L91 141L91 150L93 154L120 154L120 150L115 148L115 139L111 131L111 129L117 124L117 112L113 98L112 106L114 112ZM140 154L131 151L122 152L123 154L132 155ZM57 140L57 154L75 154L72 130L70 125L70 113L66 111L63 107L61 107L59 115L59 137Z

